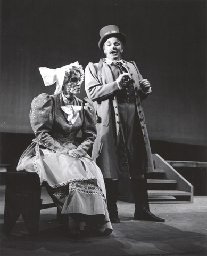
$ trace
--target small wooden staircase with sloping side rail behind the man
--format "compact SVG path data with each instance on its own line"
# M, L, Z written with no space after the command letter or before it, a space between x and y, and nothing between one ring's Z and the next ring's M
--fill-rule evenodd
M153 154L153 162L155 172L146 176L150 203L193 203L191 183L158 154ZM120 199L134 203L130 179L120 179L119 183Z

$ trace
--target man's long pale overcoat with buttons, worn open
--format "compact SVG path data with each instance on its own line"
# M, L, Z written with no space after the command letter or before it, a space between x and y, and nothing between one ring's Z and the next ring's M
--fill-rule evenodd
M140 123L140 129L137 133L139 133L140 145L142 147L142 150L140 150L142 156L137 156L142 158L141 173L153 172L151 148L142 107L142 100L148 94L143 93L139 89L139 80L143 78L136 64L126 61L124 63L134 79L136 108L138 122ZM88 97L94 103L99 120L92 158L100 167L104 178L111 179L130 177L125 138L122 135L123 124L119 118L119 105L116 97L116 91L119 90L115 81L116 78L111 70L111 66L104 59L101 59L99 63L89 62L85 70L85 90Z

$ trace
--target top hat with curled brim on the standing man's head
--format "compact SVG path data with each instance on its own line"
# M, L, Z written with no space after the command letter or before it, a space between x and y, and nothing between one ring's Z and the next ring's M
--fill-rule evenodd
M103 27L100 30L99 34L101 36L101 39L98 42L98 47L100 48L101 51L103 51L103 45L106 42L106 40L111 38L111 37L119 38L120 41L123 43L123 45L125 45L126 36L125 36L125 34L120 33L119 28L115 25L107 25L107 26Z

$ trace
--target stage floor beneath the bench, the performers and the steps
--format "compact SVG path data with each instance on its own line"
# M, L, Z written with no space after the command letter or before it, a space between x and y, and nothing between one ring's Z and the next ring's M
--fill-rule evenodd
M151 204L165 223L133 219L134 204L118 201L120 224L107 237L84 237L73 241L56 220L56 209L41 210L38 237L28 236L20 217L12 234L3 234L5 186L0 186L0 256L204 256L207 255L207 196L194 203ZM51 199L42 189L44 203Z

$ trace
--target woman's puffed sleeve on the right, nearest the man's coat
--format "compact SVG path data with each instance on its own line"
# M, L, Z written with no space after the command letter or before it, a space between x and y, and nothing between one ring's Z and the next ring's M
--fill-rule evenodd
M96 116L92 102L88 98L84 98L83 115L84 120L82 123L82 143L76 148L72 149L79 157L84 156L89 148L93 145L96 139Z

